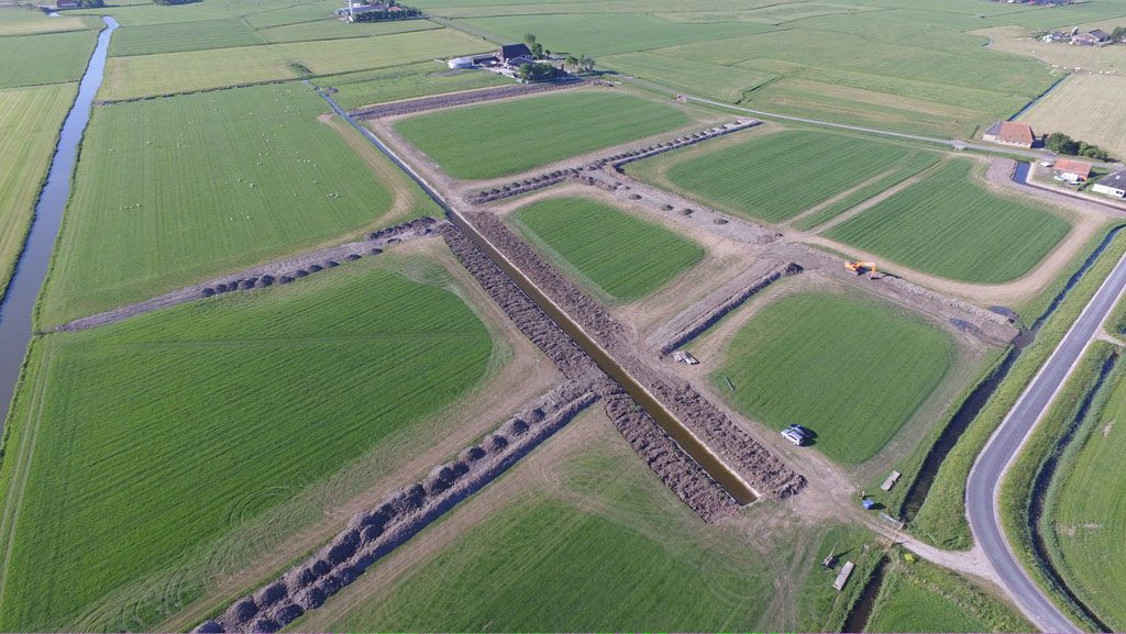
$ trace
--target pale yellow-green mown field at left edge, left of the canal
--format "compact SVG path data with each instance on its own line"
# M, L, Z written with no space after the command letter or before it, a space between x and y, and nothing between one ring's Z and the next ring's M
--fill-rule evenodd
M43 179L55 152L74 83L0 90L0 297L3 297Z

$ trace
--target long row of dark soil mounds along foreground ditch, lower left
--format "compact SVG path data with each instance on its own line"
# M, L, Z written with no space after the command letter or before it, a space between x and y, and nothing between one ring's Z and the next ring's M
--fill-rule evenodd
M590 381L549 392L421 482L359 512L345 530L279 579L195 632L276 632L355 581L379 557L482 489L597 400Z

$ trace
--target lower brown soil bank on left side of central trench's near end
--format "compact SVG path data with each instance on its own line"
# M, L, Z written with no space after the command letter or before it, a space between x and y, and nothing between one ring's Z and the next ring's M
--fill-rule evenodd
M677 498L704 521L713 524L739 510L739 502L620 387L614 385L602 400L606 416L622 437Z

